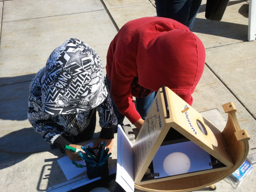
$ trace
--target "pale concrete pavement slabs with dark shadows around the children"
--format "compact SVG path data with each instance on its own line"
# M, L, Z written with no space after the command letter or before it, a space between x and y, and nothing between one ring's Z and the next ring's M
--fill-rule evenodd
M230 0L221 21L206 20L205 7L203 0L192 29L206 48L193 107L218 109L227 118L222 104L234 102L255 153L256 41L247 41L248 1ZM46 173L36 162L60 156L34 132L26 114L30 81L52 50L68 38L78 38L98 52L105 67L108 45L118 29L146 16L156 16L154 0L0 0L0 184L5 191L44 191L55 184L44 180L46 188L40 188L38 180ZM99 130L97 125L95 137ZM240 187L221 181L216 191L252 191L254 169ZM34 178L32 183L29 178Z

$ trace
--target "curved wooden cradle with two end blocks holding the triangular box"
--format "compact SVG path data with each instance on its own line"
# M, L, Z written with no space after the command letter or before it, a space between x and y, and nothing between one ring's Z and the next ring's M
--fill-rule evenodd
M210 172L206 174L199 174L162 182L154 182L151 184L135 184L135 188L148 192L186 192L210 186L235 172L235 170L237 170L240 165L242 165L248 155L248 140L250 140L250 137L247 131L241 130L238 124L238 120L235 114L236 108L234 104L229 102L222 106L224 111L228 113L228 121L224 130L222 131L222 134L228 146L230 155L233 159L234 167L228 170Z

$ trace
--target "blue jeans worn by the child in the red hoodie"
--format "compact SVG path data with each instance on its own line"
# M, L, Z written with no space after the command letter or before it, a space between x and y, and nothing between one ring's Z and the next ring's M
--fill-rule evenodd
M107 85L108 85L108 92L110 92L111 83L110 83L110 80L108 79L107 75L106 75L106 81L107 81ZM145 118L148 114L148 110L150 109L150 106L151 106L152 102L154 101L155 95L156 95L156 92L153 92L152 94L150 94L146 97L143 97L143 98L136 97L136 109L139 112L139 114L143 120L145 120ZM111 96L111 94L110 94L110 96ZM112 101L114 113L117 118L117 122L119 125L123 125L124 115L118 111L118 108L117 108L112 96L111 96L111 101ZM115 128L115 132L117 132L117 126Z

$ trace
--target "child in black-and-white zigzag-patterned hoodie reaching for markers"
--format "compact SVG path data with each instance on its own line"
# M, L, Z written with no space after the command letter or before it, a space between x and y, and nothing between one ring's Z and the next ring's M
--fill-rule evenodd
M100 137L112 148L117 124L102 74L98 54L84 42L71 38L56 48L30 84L28 120L43 139L66 152L71 160L81 160L64 145L81 149L75 143L92 138L96 110Z

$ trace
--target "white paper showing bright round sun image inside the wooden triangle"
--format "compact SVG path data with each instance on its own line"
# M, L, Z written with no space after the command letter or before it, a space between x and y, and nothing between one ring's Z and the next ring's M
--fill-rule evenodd
M160 146L153 158L154 173L168 177L212 169L210 154L192 141Z

